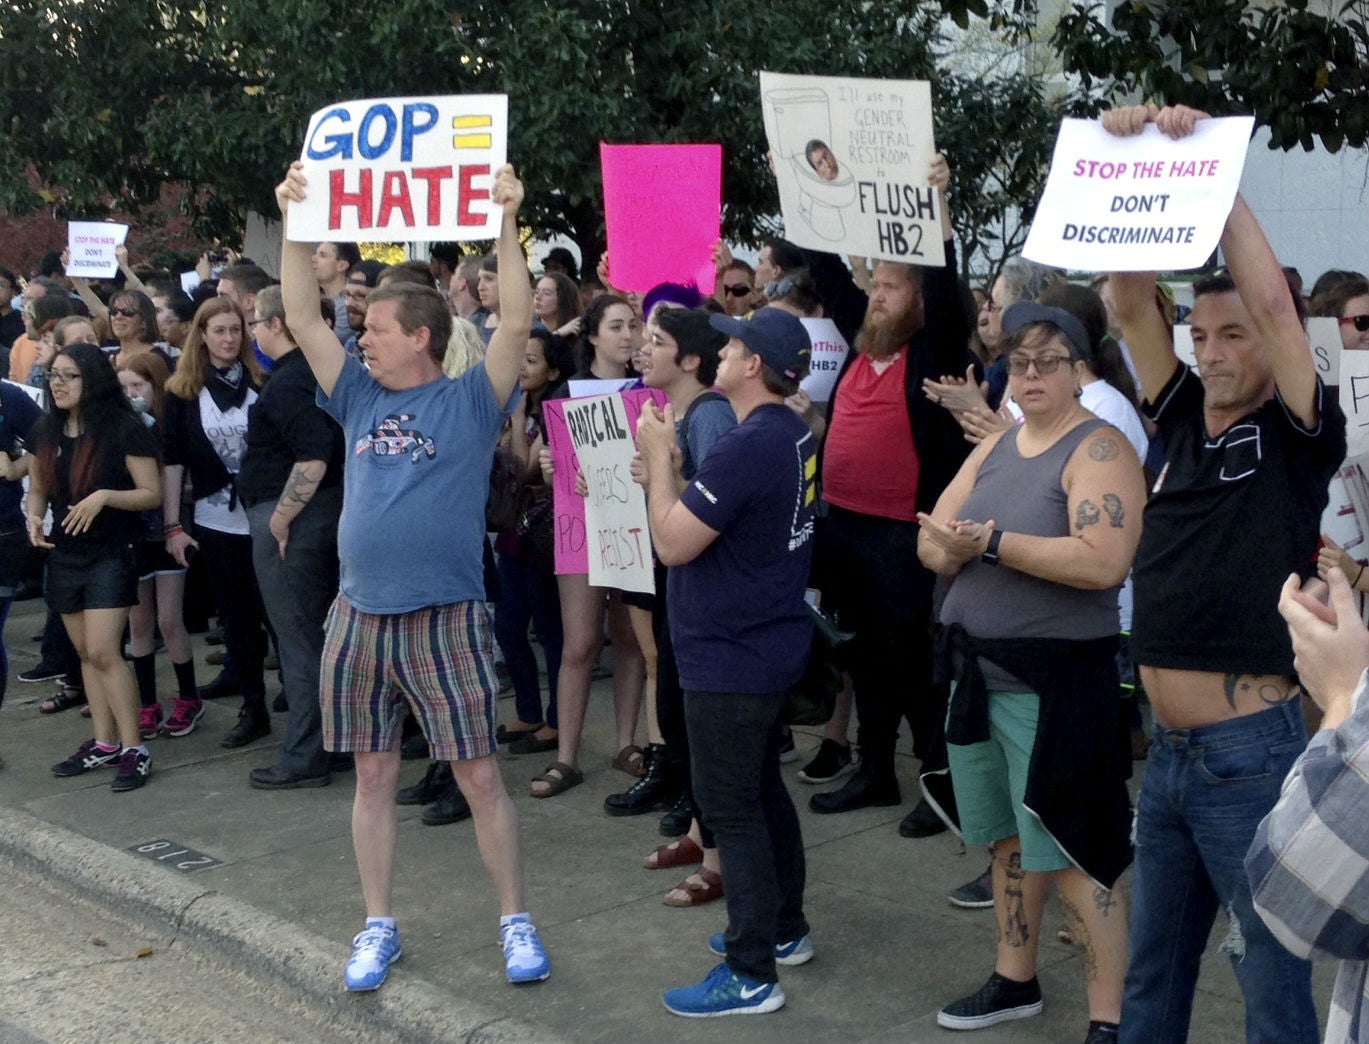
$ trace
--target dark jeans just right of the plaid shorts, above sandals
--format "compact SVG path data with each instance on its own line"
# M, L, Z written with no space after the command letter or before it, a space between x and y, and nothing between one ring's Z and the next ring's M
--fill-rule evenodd
M524 725L545 721L556 728L556 676L561 669L561 597L556 573L535 562L497 556L500 599L494 603L494 639L504 650L504 664L513 683L513 706ZM549 706L542 714L542 687L537 680L537 658L527 640L527 625L537 627L537 643L546 657Z

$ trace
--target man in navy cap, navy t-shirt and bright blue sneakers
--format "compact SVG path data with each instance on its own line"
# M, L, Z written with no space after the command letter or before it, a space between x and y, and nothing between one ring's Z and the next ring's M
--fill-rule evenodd
M775 1011L775 965L813 955L804 919L804 839L779 774L789 690L804 673L812 623L817 446L784 405L808 372L804 324L778 308L713 316L730 341L717 367L737 427L679 493L674 408L650 405L637 431L652 543L671 566L671 638L684 690L694 799L727 873L724 958L704 981L665 993L676 1015Z

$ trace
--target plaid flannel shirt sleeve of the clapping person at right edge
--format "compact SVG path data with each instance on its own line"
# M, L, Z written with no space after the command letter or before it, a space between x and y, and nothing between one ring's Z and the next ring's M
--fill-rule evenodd
M1322 729L1246 855L1255 910L1290 952L1338 958L1327 1044L1369 1041L1369 670Z

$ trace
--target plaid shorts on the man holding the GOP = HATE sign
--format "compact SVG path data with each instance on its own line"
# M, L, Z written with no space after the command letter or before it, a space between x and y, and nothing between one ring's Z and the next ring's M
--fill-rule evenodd
M338 595L323 635L323 746L394 750L413 710L438 761L493 754L494 649L483 602L363 613Z

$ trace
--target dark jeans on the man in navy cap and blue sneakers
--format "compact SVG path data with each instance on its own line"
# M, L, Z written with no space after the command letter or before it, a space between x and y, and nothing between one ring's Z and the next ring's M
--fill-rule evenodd
M717 839L727 881L727 963L778 981L775 943L808 935L804 837L779 774L787 692L684 694L694 799Z

